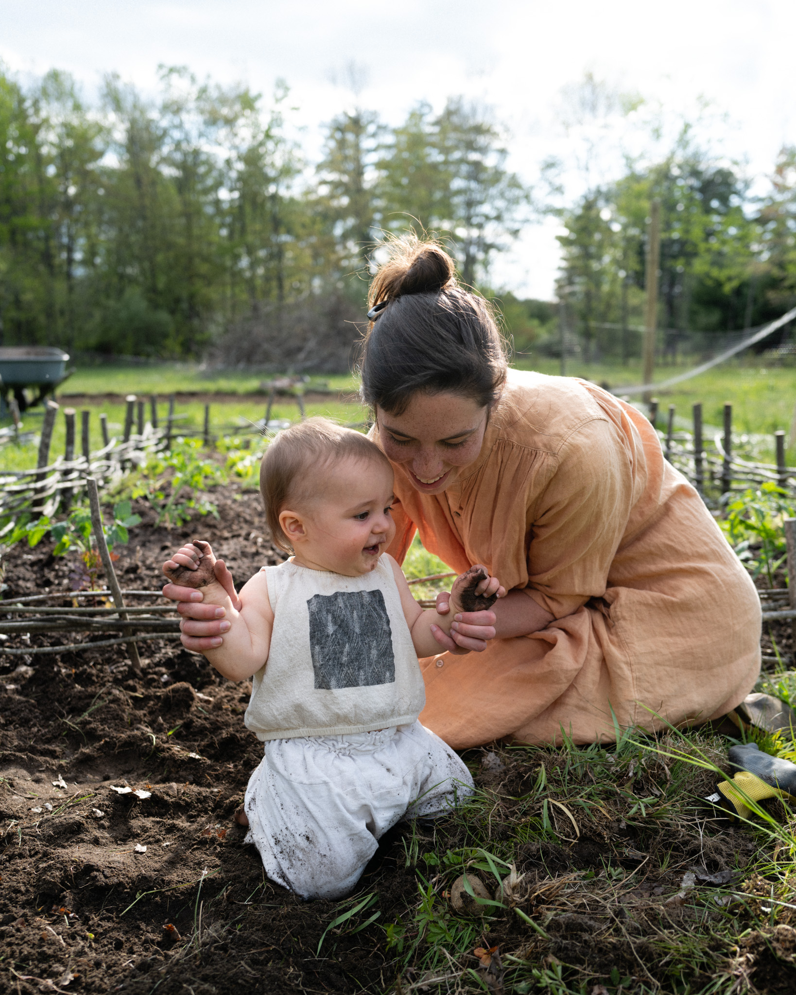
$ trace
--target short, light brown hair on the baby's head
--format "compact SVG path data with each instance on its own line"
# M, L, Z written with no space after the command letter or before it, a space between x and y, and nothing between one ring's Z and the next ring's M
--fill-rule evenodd
M367 436L335 425L328 418L298 422L280 432L268 447L260 465L260 493L271 537L281 549L293 552L280 524L280 513L290 504L310 498L310 478L346 457L390 467L390 461Z

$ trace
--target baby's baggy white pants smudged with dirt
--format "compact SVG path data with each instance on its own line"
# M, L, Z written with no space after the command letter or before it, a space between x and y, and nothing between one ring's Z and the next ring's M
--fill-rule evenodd
M464 762L420 722L271 739L246 789L246 842L273 881L303 898L339 898L391 826L449 812L472 791Z

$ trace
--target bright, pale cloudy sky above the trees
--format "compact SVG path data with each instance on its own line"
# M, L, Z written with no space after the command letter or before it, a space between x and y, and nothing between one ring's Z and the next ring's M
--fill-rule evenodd
M509 168L536 191L540 164L562 160L570 201L615 175L622 149L654 154L653 119L665 144L699 116L699 137L762 189L779 148L796 143L794 37L793 0L0 0L0 61L23 82L58 68L91 97L108 72L154 95L161 64L264 94L282 78L310 157L322 122L355 102L397 124L418 100L441 109L462 95L489 108ZM573 124L566 95L587 73L646 102ZM587 176L590 138L600 153ZM493 286L553 298L558 230L529 217Z

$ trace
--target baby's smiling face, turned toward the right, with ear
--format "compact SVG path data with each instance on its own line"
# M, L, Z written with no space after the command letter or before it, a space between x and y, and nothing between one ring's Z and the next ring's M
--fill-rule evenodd
M316 497L294 540L296 560L314 569L356 577L374 570L395 535L390 514L393 473L375 460L333 463L318 477Z

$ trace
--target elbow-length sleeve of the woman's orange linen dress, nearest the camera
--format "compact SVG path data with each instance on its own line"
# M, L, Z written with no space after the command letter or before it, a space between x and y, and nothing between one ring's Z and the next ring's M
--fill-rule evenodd
M526 593L556 618L601 597L640 482L610 421L595 419L563 444L558 466L529 508Z

